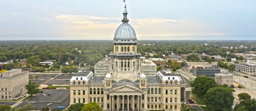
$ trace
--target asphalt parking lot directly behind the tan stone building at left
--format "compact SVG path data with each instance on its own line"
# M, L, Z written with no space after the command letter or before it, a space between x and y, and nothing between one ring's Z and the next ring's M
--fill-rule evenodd
M31 78L31 76L36 76L36 75L39 76L37 79ZM56 75L55 74L29 74L29 78L30 78L29 81L42 84L45 81L49 80L50 78L53 78L53 76L55 77Z

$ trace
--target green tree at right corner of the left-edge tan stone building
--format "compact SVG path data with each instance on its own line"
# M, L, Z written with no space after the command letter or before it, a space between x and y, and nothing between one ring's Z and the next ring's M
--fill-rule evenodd
M35 83L35 82L28 82L27 85L25 85L26 89L28 90L27 93L32 96L32 94L37 94L39 93L40 89L38 89L40 84Z

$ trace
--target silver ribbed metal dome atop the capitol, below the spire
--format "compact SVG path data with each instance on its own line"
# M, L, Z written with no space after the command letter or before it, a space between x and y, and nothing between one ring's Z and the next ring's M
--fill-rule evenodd
M123 22L119 27L117 27L114 34L114 40L137 40L136 34L132 26Z

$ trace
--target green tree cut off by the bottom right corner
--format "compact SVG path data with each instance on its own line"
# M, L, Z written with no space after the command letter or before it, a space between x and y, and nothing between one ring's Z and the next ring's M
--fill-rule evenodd
M244 99L239 104L236 104L236 106L234 108L234 111L238 111L238 108L242 107L242 106L244 106L246 108L246 110L248 110L248 111L255 111L255 109L256 109L256 100L254 100L254 99ZM242 108L240 108L240 109L242 109ZM243 111L246 111L246 110L243 110Z

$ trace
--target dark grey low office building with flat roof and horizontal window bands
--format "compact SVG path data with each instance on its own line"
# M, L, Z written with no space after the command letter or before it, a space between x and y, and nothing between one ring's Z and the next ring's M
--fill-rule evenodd
M200 76L200 75L215 76L215 73L220 73L220 69L197 67L197 68L193 68L192 72L194 76Z

